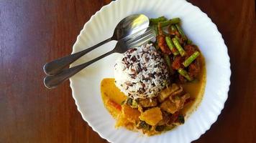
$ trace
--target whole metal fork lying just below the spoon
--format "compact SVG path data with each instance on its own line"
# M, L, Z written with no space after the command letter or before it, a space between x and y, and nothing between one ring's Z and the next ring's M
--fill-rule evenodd
M86 68L90 64L93 64L95 61L98 61L99 59L104 58L105 56L109 56L113 53L124 53L128 49L140 46L142 44L145 44L147 41L150 41L150 39L155 37L155 31L151 28L147 29L144 34L134 34L133 37L129 39L121 39L116 43L116 46L113 50L107 52L106 54L103 54L96 59L92 59L91 61L88 61L84 64L80 64L78 66L73 66L69 69L64 69L60 74L56 74L54 76L46 76L44 79L45 87L52 89L57 87L59 84L64 82L65 80L69 79L82 69Z

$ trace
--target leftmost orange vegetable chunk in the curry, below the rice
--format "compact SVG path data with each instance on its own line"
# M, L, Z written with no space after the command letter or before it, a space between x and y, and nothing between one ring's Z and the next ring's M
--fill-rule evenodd
M122 105L122 114L124 114L124 118L126 118L129 122L135 123L140 120L139 110L129 107L127 104Z

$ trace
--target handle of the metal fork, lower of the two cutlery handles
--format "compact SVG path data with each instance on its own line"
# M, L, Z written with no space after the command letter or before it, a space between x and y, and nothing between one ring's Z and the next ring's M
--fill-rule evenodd
M48 89L53 89L57 87L59 84L61 84L62 82L65 82L65 80L69 79L70 77L72 77L73 75L75 75L76 73L84 69L86 66L89 66L90 64L93 64L93 62L98 61L99 59L102 59L105 56L109 56L109 54L112 54L112 53L114 53L114 50L111 50L106 54L103 54L97 57L96 59L92 59L91 61L88 61L84 64L73 66L69 69L64 69L63 71L60 72L60 74L56 74L54 76L46 76L44 79L45 87L47 87Z

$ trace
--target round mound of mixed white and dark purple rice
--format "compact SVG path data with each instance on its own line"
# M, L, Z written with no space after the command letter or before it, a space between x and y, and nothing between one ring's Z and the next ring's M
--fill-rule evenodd
M127 97L152 98L169 82L168 67L152 44L129 49L114 66L116 87Z

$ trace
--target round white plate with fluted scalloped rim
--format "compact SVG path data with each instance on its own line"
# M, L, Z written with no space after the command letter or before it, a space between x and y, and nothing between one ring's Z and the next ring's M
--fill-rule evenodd
M216 25L198 7L185 0L119 0L113 1L96 12L79 34L73 53L97 44L111 36L118 22L130 14L145 14L148 17L180 17L188 37L199 46L206 59L206 89L204 98L185 124L170 132L146 137L127 129L115 129L115 121L101 101L100 82L114 77L114 61L119 54L107 56L70 79L73 98L83 119L109 142L167 143L192 142L211 127L227 99L231 74L227 46ZM115 41L99 47L73 64L82 64L114 47Z

